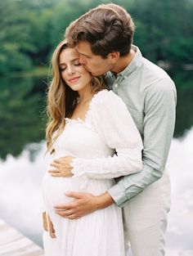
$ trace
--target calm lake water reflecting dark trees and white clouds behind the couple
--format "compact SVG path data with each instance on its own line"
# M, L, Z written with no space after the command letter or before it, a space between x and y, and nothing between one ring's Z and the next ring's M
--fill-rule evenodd
M193 255L193 72L171 70L177 123L168 156L172 181L166 256ZM42 245L46 78L0 79L0 218Z

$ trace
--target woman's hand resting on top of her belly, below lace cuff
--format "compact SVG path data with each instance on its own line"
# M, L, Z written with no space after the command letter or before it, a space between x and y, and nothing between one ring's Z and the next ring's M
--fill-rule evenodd
M49 170L48 173L53 177L72 177L74 175L71 172L73 167L70 165L72 159L74 159L74 157L70 155L55 159L52 164L50 164L55 169Z

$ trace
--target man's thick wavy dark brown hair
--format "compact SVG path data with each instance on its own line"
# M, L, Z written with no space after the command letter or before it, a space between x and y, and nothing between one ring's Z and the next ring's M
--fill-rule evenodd
M101 4L74 20L65 31L71 47L82 41L91 45L92 53L105 58L110 52L126 56L130 52L135 26L123 7Z

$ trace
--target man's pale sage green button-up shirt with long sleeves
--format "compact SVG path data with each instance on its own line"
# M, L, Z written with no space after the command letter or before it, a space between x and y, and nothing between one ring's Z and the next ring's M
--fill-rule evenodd
M162 177L173 138L177 101L168 74L141 56L137 47L132 49L136 54L125 70L117 78L110 72L105 78L107 86L128 106L144 144L141 172L121 177L108 191L119 206Z

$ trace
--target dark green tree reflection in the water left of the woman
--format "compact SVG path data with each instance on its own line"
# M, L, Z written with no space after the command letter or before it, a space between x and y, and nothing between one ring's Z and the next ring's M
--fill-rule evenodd
M44 138L46 84L40 79L0 79L0 158L20 155Z

